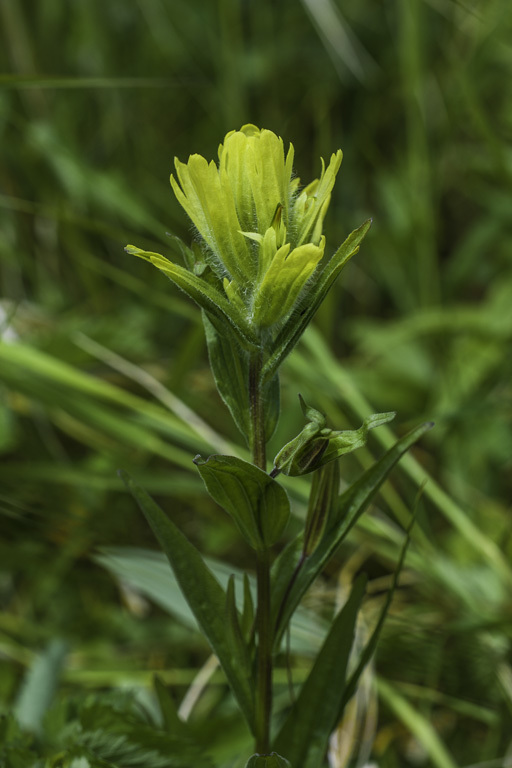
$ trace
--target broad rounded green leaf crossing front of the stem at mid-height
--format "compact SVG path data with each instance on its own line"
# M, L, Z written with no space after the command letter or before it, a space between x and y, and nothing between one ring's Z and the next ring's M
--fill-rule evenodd
M254 548L271 546L290 515L286 491L266 472L234 456L194 459L210 496L231 515Z

